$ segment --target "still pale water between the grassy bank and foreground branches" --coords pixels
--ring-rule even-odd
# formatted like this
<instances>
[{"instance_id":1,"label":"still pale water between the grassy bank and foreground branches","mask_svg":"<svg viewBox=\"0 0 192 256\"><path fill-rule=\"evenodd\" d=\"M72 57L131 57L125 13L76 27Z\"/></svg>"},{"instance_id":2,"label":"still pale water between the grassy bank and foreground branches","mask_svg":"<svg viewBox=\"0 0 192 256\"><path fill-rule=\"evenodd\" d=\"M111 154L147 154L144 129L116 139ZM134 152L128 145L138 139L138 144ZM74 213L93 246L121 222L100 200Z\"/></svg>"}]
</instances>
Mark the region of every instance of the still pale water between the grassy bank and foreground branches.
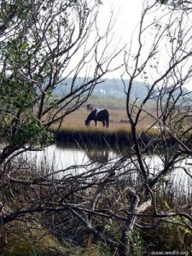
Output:
<instances>
[{"instance_id":1,"label":"still pale water between the grassy bank and foreground branches","mask_svg":"<svg viewBox=\"0 0 192 256\"><path fill-rule=\"evenodd\" d=\"M84 172L84 165L91 163L89 168L94 168L101 161L105 168L113 166L116 160L119 160L119 154L109 149L91 149L83 150L82 148L73 147L65 148L51 145L44 149L44 151L25 152L21 155L23 160L35 165L35 168L40 170L42 165L46 165L47 172L59 173L62 178L62 172L59 170L66 170L70 166L79 166L78 172ZM144 157L146 166L150 177L154 177L163 168L163 162L159 155L150 154ZM127 168L133 169L135 163L122 166L120 172L125 172ZM192 195L192 159L187 158L180 160L172 168L172 172L166 175L166 181L160 181L160 188L164 188L167 193L172 193L177 196L184 196L188 199ZM74 168L69 169L68 172L73 172ZM186 173L188 172L188 174ZM65 171L66 173L66 171ZM127 172L126 172L127 173ZM77 173L76 173L77 174ZM132 179L137 179L137 174L130 174Z\"/></svg>"}]
</instances>

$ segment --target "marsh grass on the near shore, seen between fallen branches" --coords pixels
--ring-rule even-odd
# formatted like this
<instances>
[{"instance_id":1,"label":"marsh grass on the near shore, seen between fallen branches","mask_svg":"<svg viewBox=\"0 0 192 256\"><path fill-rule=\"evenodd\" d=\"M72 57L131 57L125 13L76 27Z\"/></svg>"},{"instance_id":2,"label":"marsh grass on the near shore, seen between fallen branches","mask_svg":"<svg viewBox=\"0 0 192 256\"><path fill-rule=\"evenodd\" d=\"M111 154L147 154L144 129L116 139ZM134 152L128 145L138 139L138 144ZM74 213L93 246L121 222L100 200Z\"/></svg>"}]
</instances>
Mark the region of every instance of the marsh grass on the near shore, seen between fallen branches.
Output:
<instances>
[{"instance_id":1,"label":"marsh grass on the near shore, seen between fallen branches","mask_svg":"<svg viewBox=\"0 0 192 256\"><path fill-rule=\"evenodd\" d=\"M34 166L36 166L34 164ZM43 172L43 167L45 171ZM41 164L41 175L46 173L46 162ZM17 170L20 172L20 170ZM18 173L17 172L17 173ZM20 172L20 177L35 177L35 174L29 172ZM112 209L118 212L122 206L129 207L130 201L126 196L126 189L130 182L125 179L125 184L116 183L106 186L102 190L98 208ZM119 188L120 186L120 188ZM119 189L121 196L119 197ZM158 189L157 189L158 191ZM9 201L9 211L16 210L19 207L27 207L37 197L34 190L30 187L20 184L10 183L4 193L3 201ZM49 191L47 191L49 194ZM79 192L79 195L72 195L72 203L79 204L82 198L87 196L87 191ZM95 188L89 189L89 197L95 194ZM41 195L46 195L46 189L41 191ZM40 196L40 194L39 194ZM6 197L6 200L5 200ZM170 211L175 207L173 195L157 192L155 195L158 209ZM121 199L122 198L122 199ZM55 198L56 200L56 198ZM141 197L141 201L143 198ZM86 202L89 204L89 201ZM181 198L181 205L186 205L187 201ZM11 210L10 210L11 209ZM190 209L187 213L190 213ZM153 212L153 209L148 209ZM147 213L147 212L146 212ZM126 215L124 215L126 217ZM153 224L153 218L146 217L143 223ZM172 218L170 221L179 222L179 218ZM111 221L108 218L94 218L94 226L114 241L118 241L124 227L124 222L118 219ZM161 251L161 249L189 251L192 245L192 233L184 226L174 225L170 222L159 222L152 229L140 230L136 228L131 236L131 256L142 255L143 252ZM76 255L76 256L97 256L114 255L110 247L99 239L93 238L84 233L84 225L69 212L47 212L26 214L19 220L15 220L5 225L0 230L0 248L1 255ZM20 252L20 253L18 253Z\"/></svg>"}]
</instances>

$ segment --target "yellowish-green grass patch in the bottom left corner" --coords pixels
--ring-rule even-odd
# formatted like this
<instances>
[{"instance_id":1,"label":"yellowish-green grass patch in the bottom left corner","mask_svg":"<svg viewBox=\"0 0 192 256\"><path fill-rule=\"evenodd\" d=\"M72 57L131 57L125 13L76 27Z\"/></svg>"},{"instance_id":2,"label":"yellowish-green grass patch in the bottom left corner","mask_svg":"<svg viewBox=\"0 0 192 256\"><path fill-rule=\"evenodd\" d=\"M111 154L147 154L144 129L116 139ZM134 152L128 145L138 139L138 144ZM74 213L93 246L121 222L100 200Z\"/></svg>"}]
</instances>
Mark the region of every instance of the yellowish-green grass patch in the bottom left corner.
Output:
<instances>
[{"instance_id":1,"label":"yellowish-green grass patch in the bottom left corner","mask_svg":"<svg viewBox=\"0 0 192 256\"><path fill-rule=\"evenodd\" d=\"M57 241L37 220L15 220L6 224L0 235L1 255L72 255L71 247Z\"/></svg>"}]
</instances>

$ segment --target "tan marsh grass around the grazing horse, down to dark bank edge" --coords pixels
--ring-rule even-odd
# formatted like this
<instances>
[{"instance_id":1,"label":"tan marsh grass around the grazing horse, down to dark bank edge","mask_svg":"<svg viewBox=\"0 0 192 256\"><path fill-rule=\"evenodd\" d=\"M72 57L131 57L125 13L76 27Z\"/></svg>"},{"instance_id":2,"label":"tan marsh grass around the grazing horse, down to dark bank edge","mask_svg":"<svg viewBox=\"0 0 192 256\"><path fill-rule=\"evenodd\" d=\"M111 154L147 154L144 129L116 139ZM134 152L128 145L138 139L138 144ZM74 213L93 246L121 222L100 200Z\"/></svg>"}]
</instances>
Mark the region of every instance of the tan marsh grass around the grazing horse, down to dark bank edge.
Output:
<instances>
[{"instance_id":1,"label":"tan marsh grass around the grazing horse, down to dark bank edge","mask_svg":"<svg viewBox=\"0 0 192 256\"><path fill-rule=\"evenodd\" d=\"M61 124L60 131L56 137L56 143L64 143L65 145L90 143L95 145L95 147L100 144L109 148L113 148L114 146L117 148L130 147L131 125L128 121L125 108L111 108L109 111L109 128L102 127L101 122L98 122L98 127L96 127L94 121L90 122L89 127L85 126L84 120L89 115L85 105L69 114ZM153 119L143 115L137 125L138 136L143 140L147 137L158 136L159 131L154 129L153 124ZM52 126L54 131L56 131L56 128L56 125Z\"/></svg>"}]
</instances>

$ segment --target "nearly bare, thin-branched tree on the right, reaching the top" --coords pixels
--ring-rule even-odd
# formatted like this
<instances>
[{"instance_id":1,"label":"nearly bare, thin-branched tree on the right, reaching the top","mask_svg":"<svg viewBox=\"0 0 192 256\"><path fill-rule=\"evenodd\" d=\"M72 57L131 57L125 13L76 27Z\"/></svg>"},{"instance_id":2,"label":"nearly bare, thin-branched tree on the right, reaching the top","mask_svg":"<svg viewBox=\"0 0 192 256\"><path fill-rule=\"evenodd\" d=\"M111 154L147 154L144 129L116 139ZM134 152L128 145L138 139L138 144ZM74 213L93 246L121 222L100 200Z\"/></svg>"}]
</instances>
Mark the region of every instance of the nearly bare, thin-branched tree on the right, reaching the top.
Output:
<instances>
[{"instance_id":1,"label":"nearly bare, thin-branched tree on the right, reaching the top","mask_svg":"<svg viewBox=\"0 0 192 256\"><path fill-rule=\"evenodd\" d=\"M189 3L174 1L174 4L176 2ZM126 111L134 145L131 149L136 156L132 161L135 163L138 179L136 187L131 189L131 200L135 204L132 204L132 214L130 215L130 211L127 214L129 222L126 226L127 233L122 236L123 246L119 245L122 252L120 255L131 252L134 224L145 229L149 225L154 228L167 221L172 225L184 224L186 229L192 230L191 214L186 207L189 201L182 201L179 205L177 200L173 201L172 207L166 210L166 201L161 202L159 197L160 183L164 183L170 173L176 172L178 166L180 175L187 175L190 182L192 177L188 161L185 166L181 166L182 160L191 160L192 157L192 125L189 121L192 116L192 94L185 89L192 77L190 18L191 14L186 14L186 9L176 11L165 6L161 8L156 1L146 1L137 33L131 40L131 48L125 53L124 75L130 81L127 83L122 80L125 84ZM136 97L135 102L132 102L131 91L134 90L133 83L136 79L143 80L148 93L142 100ZM155 102L154 108L148 108L151 100ZM137 132L142 121L146 124L143 126L143 135ZM156 136L150 137L148 131L155 129ZM154 166L148 165L148 152L159 157L157 166L155 163ZM128 155L126 159L129 159ZM138 201L143 202L141 188L146 193L144 201L148 205L148 211L139 214ZM187 194L190 193L188 188ZM153 224L146 222L146 216L153 219ZM191 249L188 247L189 251Z\"/></svg>"}]
</instances>

